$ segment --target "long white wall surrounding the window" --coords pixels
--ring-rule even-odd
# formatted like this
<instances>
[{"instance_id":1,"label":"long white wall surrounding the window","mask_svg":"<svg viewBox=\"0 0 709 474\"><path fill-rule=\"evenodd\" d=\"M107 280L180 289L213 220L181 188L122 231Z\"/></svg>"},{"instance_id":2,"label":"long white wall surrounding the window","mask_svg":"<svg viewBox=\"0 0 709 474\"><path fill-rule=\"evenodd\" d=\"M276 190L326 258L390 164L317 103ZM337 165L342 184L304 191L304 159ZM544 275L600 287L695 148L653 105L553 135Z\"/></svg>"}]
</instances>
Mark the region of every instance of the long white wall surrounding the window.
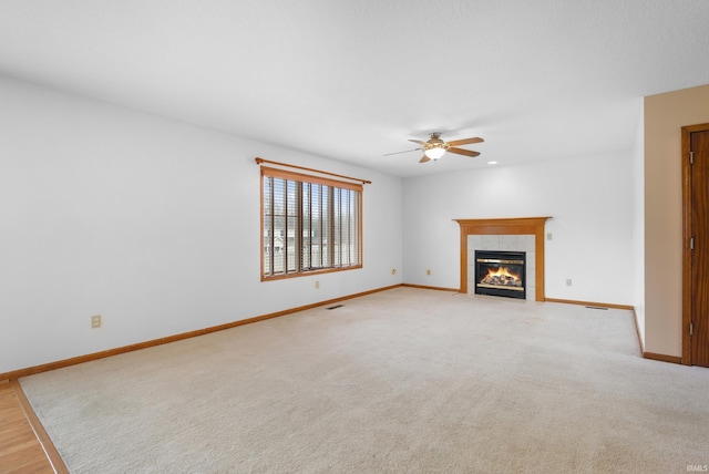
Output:
<instances>
[{"instance_id":1,"label":"long white wall surrounding the window","mask_svg":"<svg viewBox=\"0 0 709 474\"><path fill-rule=\"evenodd\" d=\"M400 178L9 79L0 103L0 372L401 282ZM260 281L256 156L372 181L363 269Z\"/></svg>"}]
</instances>

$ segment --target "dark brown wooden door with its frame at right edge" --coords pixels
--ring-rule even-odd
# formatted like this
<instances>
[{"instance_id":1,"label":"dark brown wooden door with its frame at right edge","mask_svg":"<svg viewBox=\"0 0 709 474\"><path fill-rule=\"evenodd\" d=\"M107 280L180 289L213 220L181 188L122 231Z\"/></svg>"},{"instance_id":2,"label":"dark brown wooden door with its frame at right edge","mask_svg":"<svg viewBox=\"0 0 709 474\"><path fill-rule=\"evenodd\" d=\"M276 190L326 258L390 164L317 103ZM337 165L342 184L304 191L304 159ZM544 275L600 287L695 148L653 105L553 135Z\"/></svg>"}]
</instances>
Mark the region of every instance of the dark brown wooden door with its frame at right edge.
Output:
<instances>
[{"instance_id":1,"label":"dark brown wooden door with its frame at right edge","mask_svg":"<svg viewBox=\"0 0 709 474\"><path fill-rule=\"evenodd\" d=\"M682 127L682 363L709 367L709 124Z\"/></svg>"}]
</instances>

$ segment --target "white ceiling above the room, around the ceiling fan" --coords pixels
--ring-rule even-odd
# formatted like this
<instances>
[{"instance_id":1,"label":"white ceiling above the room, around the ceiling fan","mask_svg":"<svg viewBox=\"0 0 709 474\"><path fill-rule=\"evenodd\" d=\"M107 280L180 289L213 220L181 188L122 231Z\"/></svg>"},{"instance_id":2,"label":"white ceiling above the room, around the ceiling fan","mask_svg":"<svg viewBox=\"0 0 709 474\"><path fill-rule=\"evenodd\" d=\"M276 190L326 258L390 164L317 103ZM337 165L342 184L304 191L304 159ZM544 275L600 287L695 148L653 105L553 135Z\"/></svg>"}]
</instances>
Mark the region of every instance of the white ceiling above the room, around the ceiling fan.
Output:
<instances>
[{"instance_id":1,"label":"white ceiling above the room, around the ceiling fan","mask_svg":"<svg viewBox=\"0 0 709 474\"><path fill-rule=\"evenodd\" d=\"M414 176L631 148L709 1L0 0L0 74ZM434 131L482 155L382 156Z\"/></svg>"}]
</instances>

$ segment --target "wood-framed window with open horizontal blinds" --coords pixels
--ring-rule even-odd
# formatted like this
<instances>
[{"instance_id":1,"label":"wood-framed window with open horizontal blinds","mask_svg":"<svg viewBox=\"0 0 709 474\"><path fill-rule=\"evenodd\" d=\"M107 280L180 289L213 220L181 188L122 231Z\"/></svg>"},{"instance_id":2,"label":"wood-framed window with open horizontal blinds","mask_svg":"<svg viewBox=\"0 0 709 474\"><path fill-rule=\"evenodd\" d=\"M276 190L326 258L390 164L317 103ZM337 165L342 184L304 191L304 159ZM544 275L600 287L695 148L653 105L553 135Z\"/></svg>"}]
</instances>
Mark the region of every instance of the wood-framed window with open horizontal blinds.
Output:
<instances>
[{"instance_id":1,"label":"wood-framed window with open horizontal blinds","mask_svg":"<svg viewBox=\"0 0 709 474\"><path fill-rule=\"evenodd\" d=\"M261 166L261 279L362 266L362 185Z\"/></svg>"}]
</instances>

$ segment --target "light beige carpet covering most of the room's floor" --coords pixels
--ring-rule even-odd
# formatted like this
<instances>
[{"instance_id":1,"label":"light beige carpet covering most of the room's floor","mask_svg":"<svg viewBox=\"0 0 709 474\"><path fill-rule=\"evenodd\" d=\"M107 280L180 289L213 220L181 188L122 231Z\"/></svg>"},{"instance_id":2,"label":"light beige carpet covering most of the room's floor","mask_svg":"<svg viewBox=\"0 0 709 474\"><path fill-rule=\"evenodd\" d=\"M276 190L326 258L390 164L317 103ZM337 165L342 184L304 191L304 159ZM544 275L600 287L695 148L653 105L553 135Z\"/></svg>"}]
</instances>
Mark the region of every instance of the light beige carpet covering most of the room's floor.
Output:
<instances>
[{"instance_id":1,"label":"light beige carpet covering most of the room's floor","mask_svg":"<svg viewBox=\"0 0 709 474\"><path fill-rule=\"evenodd\" d=\"M73 473L687 472L709 370L629 311L397 288L21 379Z\"/></svg>"}]
</instances>

